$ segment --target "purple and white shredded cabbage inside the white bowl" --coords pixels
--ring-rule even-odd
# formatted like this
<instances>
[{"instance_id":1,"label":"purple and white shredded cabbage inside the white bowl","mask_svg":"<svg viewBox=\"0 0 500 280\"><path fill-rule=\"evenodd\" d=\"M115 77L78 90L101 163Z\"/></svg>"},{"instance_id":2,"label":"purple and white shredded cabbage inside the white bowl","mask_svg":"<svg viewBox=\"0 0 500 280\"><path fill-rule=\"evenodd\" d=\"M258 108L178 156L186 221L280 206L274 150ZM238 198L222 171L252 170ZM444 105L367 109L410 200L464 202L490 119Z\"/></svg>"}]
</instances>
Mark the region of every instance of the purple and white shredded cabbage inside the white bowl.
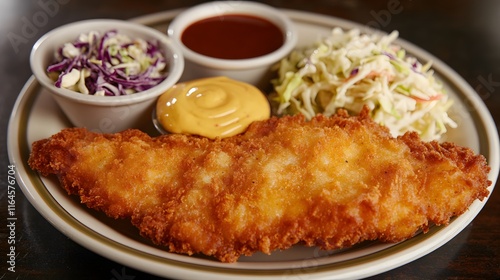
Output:
<instances>
[{"instance_id":1,"label":"purple and white shredded cabbage inside the white bowl","mask_svg":"<svg viewBox=\"0 0 500 280\"><path fill-rule=\"evenodd\" d=\"M98 96L129 95L154 87L167 76L157 42L110 30L80 34L55 53L47 67L59 88Z\"/></svg>"}]
</instances>

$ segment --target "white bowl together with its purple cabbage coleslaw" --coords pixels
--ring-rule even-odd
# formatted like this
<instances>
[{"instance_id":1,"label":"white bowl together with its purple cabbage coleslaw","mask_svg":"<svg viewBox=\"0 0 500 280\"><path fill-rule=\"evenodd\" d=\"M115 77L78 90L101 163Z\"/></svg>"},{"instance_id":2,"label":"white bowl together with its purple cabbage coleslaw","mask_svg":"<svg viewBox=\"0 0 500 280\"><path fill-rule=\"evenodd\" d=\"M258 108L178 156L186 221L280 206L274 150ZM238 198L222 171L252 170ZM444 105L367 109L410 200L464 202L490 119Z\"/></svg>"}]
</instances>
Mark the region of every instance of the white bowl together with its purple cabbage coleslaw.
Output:
<instances>
[{"instance_id":1,"label":"white bowl together with its purple cabbage coleslaw","mask_svg":"<svg viewBox=\"0 0 500 280\"><path fill-rule=\"evenodd\" d=\"M127 39L133 42L122 42ZM82 41L88 43L86 48L80 48ZM110 41L114 44L108 44ZM132 48L134 44L137 47ZM135 61L149 53L155 54L154 61ZM141 63L147 65L137 66ZM181 77L184 58L168 36L153 28L129 21L92 19L43 35L32 48L30 65L73 125L113 133L142 128L150 122L157 97ZM50 74L54 69L55 75ZM153 76L155 71L163 76Z\"/></svg>"}]
</instances>

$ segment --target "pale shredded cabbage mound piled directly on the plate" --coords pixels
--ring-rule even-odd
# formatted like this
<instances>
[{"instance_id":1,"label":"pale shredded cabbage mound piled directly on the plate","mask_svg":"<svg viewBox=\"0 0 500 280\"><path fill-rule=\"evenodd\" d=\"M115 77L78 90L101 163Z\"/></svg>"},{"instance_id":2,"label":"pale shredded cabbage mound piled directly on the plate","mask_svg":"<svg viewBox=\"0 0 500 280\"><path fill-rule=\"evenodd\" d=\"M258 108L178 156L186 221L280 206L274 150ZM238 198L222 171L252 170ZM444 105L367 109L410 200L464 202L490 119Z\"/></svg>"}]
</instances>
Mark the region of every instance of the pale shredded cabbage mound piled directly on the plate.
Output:
<instances>
[{"instance_id":1,"label":"pale shredded cabbage mound piled directly on the plate","mask_svg":"<svg viewBox=\"0 0 500 280\"><path fill-rule=\"evenodd\" d=\"M357 114L363 106L393 136L416 131L425 141L439 140L452 105L431 62L422 65L393 44L398 37L334 28L310 48L293 51L277 66L274 101L278 115L302 113L307 119L344 108Z\"/></svg>"}]
</instances>

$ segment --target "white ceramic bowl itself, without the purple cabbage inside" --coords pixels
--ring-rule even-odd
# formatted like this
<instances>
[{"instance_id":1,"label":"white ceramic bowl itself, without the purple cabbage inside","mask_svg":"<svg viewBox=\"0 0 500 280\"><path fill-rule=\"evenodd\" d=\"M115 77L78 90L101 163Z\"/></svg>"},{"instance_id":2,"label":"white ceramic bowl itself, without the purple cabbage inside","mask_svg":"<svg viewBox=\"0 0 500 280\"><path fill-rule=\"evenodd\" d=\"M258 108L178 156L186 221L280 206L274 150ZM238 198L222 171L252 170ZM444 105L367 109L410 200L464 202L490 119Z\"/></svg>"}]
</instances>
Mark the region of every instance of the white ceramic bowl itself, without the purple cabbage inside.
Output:
<instances>
[{"instance_id":1,"label":"white ceramic bowl itself, without the purple cabbage inside","mask_svg":"<svg viewBox=\"0 0 500 280\"><path fill-rule=\"evenodd\" d=\"M56 87L47 73L56 50L64 43L74 42L80 34L90 31L104 33L109 30L116 30L130 38L158 42L167 61L167 77L152 88L120 96L96 96ZM150 123L151 110L158 96L176 84L181 77L184 58L179 47L163 32L129 21L92 19L70 23L43 35L32 48L30 65L38 82L50 92L74 126L113 133L128 128L141 128Z\"/></svg>"}]
</instances>

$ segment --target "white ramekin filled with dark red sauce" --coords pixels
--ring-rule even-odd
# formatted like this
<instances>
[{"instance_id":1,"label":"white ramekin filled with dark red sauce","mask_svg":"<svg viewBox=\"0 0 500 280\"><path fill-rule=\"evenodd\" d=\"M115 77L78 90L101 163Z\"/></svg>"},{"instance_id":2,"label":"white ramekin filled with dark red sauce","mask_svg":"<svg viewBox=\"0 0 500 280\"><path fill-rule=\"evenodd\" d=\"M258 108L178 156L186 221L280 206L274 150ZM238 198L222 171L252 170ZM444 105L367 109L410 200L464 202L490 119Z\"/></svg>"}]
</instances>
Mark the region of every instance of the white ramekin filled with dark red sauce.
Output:
<instances>
[{"instance_id":1,"label":"white ramekin filled with dark red sauce","mask_svg":"<svg viewBox=\"0 0 500 280\"><path fill-rule=\"evenodd\" d=\"M215 1L182 11L167 34L185 58L181 80L226 76L259 88L270 85L270 67L297 43L292 21L271 6Z\"/></svg>"}]
</instances>

